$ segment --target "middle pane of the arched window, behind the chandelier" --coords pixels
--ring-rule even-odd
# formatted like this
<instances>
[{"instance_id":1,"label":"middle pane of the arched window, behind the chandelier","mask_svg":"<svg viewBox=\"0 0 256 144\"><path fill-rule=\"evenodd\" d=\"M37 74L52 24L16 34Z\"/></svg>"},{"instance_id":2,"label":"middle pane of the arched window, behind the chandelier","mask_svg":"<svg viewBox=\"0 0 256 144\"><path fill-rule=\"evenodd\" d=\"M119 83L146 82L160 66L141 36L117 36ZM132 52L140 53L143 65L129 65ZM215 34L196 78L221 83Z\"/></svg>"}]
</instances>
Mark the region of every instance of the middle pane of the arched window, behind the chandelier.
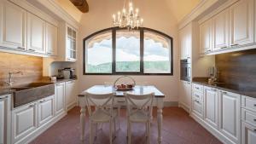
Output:
<instances>
[{"instance_id":1,"label":"middle pane of the arched window, behind the chandelier","mask_svg":"<svg viewBox=\"0 0 256 144\"><path fill-rule=\"evenodd\" d=\"M116 32L116 72L140 72L140 32Z\"/></svg>"}]
</instances>

